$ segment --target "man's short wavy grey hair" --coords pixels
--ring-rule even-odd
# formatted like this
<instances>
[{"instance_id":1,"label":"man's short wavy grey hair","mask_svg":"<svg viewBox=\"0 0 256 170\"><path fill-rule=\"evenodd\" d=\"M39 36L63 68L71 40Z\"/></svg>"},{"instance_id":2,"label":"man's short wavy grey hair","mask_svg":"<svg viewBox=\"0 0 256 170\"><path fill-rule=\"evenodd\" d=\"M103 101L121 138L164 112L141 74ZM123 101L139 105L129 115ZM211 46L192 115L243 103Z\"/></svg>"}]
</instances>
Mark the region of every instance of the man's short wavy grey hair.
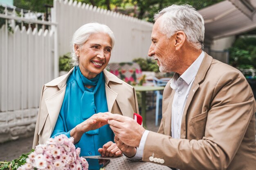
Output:
<instances>
[{"instance_id":1,"label":"man's short wavy grey hair","mask_svg":"<svg viewBox=\"0 0 256 170\"><path fill-rule=\"evenodd\" d=\"M156 21L160 16L160 31L170 38L176 31L183 31L187 40L196 48L203 49L204 19L191 5L171 5L154 15Z\"/></svg>"}]
</instances>

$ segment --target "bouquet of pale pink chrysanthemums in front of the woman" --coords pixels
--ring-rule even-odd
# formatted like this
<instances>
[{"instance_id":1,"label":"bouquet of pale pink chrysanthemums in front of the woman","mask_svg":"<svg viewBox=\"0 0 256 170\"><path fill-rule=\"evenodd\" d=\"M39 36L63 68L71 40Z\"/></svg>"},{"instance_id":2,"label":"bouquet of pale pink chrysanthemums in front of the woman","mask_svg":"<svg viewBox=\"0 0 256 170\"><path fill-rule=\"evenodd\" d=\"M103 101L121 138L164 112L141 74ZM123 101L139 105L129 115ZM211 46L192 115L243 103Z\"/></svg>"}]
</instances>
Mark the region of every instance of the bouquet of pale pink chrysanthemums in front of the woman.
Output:
<instances>
[{"instance_id":1,"label":"bouquet of pale pink chrysanthemums in front of the woman","mask_svg":"<svg viewBox=\"0 0 256 170\"><path fill-rule=\"evenodd\" d=\"M80 148L75 148L73 137L58 135L36 146L18 170L88 170L88 162L79 154Z\"/></svg>"}]
</instances>

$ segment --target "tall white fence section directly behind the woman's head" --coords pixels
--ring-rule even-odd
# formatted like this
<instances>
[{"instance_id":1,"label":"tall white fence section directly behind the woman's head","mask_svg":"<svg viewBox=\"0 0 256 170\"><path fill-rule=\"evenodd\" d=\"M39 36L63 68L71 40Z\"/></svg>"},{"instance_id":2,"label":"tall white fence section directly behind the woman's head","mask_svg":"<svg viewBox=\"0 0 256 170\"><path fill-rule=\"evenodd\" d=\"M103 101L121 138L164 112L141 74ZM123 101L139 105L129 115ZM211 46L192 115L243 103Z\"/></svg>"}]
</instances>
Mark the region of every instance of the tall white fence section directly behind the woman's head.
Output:
<instances>
[{"instance_id":1,"label":"tall white fence section directly behind the woman's head","mask_svg":"<svg viewBox=\"0 0 256 170\"><path fill-rule=\"evenodd\" d=\"M147 57L152 23L73 0L55 0L52 14L56 15L54 22L58 23L60 55L71 51L70 42L76 29L86 23L99 22L109 26L116 38L110 62Z\"/></svg>"}]
</instances>

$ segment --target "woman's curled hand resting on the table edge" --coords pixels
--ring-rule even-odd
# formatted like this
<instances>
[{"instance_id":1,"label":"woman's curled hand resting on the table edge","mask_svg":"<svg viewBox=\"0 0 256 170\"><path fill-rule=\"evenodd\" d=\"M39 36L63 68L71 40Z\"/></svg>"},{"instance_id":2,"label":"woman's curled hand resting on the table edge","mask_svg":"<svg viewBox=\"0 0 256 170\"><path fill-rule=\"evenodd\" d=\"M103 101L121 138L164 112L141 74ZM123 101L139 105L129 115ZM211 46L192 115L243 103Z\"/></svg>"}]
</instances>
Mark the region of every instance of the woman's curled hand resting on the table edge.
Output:
<instances>
[{"instance_id":1,"label":"woman's curled hand resting on the table edge","mask_svg":"<svg viewBox=\"0 0 256 170\"><path fill-rule=\"evenodd\" d=\"M98 152L102 157L118 157L122 155L122 151L112 141L104 144L102 148L98 149Z\"/></svg>"}]
</instances>

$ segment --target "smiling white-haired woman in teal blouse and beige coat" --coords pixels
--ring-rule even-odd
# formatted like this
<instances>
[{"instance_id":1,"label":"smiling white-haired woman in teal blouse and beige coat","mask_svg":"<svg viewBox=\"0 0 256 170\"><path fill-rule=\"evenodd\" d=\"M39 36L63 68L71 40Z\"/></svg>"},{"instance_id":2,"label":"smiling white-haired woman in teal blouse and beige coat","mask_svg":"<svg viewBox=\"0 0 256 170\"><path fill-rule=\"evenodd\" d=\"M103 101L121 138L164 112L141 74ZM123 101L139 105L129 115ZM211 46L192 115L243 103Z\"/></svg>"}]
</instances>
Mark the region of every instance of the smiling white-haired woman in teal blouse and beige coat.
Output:
<instances>
[{"instance_id":1,"label":"smiling white-haired woman in teal blouse and beige coat","mask_svg":"<svg viewBox=\"0 0 256 170\"><path fill-rule=\"evenodd\" d=\"M103 24L85 24L74 33L75 66L43 86L33 148L65 134L74 137L81 156L122 154L104 112L133 117L138 105L134 88L104 70L114 44L113 32Z\"/></svg>"}]
</instances>

